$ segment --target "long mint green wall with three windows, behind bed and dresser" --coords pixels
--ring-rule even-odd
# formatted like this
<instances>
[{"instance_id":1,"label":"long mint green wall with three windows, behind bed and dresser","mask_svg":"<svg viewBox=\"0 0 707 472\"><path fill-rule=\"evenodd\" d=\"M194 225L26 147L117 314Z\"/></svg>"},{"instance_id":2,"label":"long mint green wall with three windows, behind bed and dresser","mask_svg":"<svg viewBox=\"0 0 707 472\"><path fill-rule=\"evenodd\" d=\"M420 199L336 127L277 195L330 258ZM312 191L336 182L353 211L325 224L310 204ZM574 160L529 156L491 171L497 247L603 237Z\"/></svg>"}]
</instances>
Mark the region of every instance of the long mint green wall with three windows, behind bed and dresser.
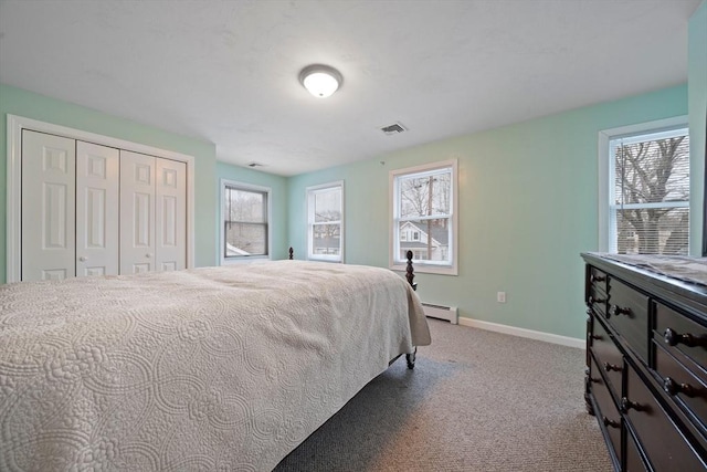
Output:
<instances>
[{"instance_id":1,"label":"long mint green wall with three windows, behind bed and dresser","mask_svg":"<svg viewBox=\"0 0 707 472\"><path fill-rule=\"evenodd\" d=\"M598 249L598 133L686 113L680 85L296 176L289 240L305 254L305 188L344 180L346 262L387 266L388 172L457 158L460 275L418 274L422 300L456 305L465 317L583 338L580 252ZM496 302L498 291L507 303Z\"/></svg>"}]
</instances>

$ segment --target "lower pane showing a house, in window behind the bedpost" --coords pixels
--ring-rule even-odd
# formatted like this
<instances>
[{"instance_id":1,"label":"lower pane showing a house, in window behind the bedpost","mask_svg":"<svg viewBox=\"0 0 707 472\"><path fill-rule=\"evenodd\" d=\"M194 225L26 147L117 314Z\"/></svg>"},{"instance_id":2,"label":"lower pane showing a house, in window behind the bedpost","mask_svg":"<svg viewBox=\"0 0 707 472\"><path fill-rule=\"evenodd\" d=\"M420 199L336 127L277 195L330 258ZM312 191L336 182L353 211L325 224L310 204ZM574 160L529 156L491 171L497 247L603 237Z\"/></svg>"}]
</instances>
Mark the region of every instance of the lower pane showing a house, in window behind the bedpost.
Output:
<instances>
[{"instance_id":1,"label":"lower pane showing a house, in window behind the bedpost","mask_svg":"<svg viewBox=\"0 0 707 472\"><path fill-rule=\"evenodd\" d=\"M418 261L450 263L450 220L401 221L398 225L400 259L412 251Z\"/></svg>"}]
</instances>

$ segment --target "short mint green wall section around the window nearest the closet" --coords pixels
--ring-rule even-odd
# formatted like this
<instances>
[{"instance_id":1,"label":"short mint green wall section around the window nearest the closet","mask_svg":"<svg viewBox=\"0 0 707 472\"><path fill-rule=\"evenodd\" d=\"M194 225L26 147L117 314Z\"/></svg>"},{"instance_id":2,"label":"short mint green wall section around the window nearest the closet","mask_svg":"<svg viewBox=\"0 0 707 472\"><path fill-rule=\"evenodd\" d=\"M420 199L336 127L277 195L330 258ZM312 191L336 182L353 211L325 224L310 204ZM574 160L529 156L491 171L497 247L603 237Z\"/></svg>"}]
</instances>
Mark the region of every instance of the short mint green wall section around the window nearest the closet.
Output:
<instances>
[{"instance_id":1,"label":"short mint green wall section around the window nearest the closet","mask_svg":"<svg viewBox=\"0 0 707 472\"><path fill-rule=\"evenodd\" d=\"M217 201L220 201L221 179L234 180L243 183L251 183L271 189L271 234L272 234L272 259L287 259L289 249L287 233L287 178L260 172L245 167L232 166L224 162L217 162ZM221 209L219 209L221 211ZM218 231L221 231L219 228ZM217 232L217 241L219 238ZM217 242L218 244L218 242ZM218 249L217 249L218 251ZM219 254L217 254L217 258Z\"/></svg>"}]
</instances>

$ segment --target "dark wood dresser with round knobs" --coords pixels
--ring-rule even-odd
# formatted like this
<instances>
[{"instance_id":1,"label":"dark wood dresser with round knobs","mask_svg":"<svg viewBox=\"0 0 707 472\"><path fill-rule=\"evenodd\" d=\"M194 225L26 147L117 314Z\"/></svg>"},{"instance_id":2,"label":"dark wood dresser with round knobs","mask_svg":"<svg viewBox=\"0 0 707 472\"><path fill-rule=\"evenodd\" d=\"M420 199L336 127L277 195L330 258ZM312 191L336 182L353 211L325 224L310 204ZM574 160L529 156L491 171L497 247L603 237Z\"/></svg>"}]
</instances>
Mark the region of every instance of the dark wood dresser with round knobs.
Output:
<instances>
[{"instance_id":1,"label":"dark wood dresser with round knobs","mask_svg":"<svg viewBox=\"0 0 707 472\"><path fill-rule=\"evenodd\" d=\"M707 286L582 258L587 408L614 469L707 470Z\"/></svg>"}]
</instances>

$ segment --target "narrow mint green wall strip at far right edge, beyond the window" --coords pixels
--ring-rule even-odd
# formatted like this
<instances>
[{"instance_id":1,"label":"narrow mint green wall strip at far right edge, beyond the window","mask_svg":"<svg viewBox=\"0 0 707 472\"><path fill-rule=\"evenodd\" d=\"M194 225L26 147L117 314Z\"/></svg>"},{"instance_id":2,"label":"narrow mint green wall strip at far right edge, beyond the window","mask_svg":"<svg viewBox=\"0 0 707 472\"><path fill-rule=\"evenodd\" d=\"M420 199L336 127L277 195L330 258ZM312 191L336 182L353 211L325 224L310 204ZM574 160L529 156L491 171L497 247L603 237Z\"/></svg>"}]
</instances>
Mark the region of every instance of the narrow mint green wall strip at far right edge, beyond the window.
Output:
<instances>
[{"instance_id":1,"label":"narrow mint green wall strip at far right edge, beyond the window","mask_svg":"<svg viewBox=\"0 0 707 472\"><path fill-rule=\"evenodd\" d=\"M690 252L701 255L703 224L707 208L705 192L705 126L707 122L707 0L689 19L687 54L687 96L689 107L690 154Z\"/></svg>"}]
</instances>

